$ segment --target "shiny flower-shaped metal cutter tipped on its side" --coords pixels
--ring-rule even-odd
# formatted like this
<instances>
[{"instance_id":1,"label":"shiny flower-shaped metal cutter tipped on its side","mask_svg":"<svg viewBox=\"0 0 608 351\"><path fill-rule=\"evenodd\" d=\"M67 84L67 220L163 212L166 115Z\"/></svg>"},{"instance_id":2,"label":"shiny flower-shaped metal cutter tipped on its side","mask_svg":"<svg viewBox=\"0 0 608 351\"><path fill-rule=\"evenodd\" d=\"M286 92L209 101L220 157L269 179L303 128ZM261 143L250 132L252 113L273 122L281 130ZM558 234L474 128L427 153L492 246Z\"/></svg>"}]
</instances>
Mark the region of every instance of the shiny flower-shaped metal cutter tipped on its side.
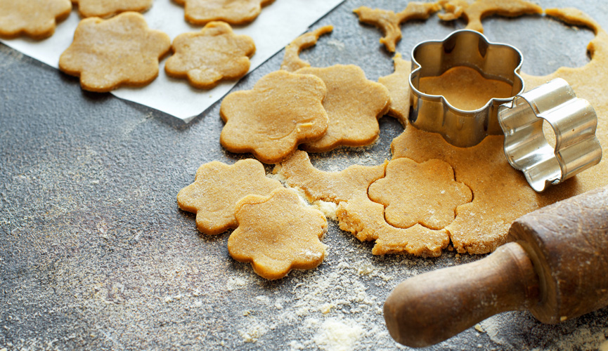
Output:
<instances>
[{"instance_id":1,"label":"shiny flower-shaped metal cutter tipped on its side","mask_svg":"<svg viewBox=\"0 0 608 351\"><path fill-rule=\"evenodd\" d=\"M595 110L587 100L576 98L564 79L518 94L498 108L498 121L505 133L507 160L524 172L537 192L602 159L602 148L595 138ZM555 133L555 147L548 143L543 121Z\"/></svg>"}]
</instances>

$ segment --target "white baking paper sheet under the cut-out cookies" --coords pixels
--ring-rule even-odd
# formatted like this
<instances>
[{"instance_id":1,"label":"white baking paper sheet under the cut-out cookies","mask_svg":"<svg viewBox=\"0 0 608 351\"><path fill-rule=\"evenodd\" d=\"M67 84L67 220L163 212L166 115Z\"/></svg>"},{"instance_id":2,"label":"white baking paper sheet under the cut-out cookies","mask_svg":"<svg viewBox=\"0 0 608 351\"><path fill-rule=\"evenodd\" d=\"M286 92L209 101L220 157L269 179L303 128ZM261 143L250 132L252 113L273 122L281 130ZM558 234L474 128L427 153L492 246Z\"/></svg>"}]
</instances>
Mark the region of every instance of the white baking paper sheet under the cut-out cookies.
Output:
<instances>
[{"instance_id":1,"label":"white baking paper sheet under the cut-out cookies","mask_svg":"<svg viewBox=\"0 0 608 351\"><path fill-rule=\"evenodd\" d=\"M342 1L344 0L276 0L262 8L259 17L250 25L233 28L235 33L247 34L255 41L256 53L251 60L250 72L299 34L306 32L310 25ZM154 1L152 8L143 15L151 29L169 34L172 40L178 34L202 28L183 20L183 6L172 0ZM70 17L58 24L55 34L48 39L34 41L18 38L1 41L25 55L58 68L59 56L72 43L79 20L81 18L75 8ZM112 91L112 94L189 122L224 97L236 84L236 81L223 82L207 91L192 88L186 79L172 79L164 74L165 60L167 57L160 64L159 76L150 85L143 88L119 88Z\"/></svg>"}]
</instances>

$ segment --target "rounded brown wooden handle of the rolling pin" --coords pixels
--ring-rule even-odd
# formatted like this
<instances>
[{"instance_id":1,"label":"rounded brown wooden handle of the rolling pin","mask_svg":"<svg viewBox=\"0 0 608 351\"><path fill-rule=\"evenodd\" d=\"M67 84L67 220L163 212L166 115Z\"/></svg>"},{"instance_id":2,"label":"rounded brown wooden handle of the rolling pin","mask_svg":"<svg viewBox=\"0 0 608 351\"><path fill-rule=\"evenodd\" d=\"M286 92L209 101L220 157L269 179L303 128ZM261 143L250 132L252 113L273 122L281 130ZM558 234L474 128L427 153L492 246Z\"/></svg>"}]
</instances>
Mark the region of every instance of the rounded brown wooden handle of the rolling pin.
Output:
<instances>
[{"instance_id":1,"label":"rounded brown wooden handle of the rolling pin","mask_svg":"<svg viewBox=\"0 0 608 351\"><path fill-rule=\"evenodd\" d=\"M538 303L538 275L524 248L511 242L473 263L407 279L384 302L391 336L403 345L434 345L493 314Z\"/></svg>"}]
</instances>

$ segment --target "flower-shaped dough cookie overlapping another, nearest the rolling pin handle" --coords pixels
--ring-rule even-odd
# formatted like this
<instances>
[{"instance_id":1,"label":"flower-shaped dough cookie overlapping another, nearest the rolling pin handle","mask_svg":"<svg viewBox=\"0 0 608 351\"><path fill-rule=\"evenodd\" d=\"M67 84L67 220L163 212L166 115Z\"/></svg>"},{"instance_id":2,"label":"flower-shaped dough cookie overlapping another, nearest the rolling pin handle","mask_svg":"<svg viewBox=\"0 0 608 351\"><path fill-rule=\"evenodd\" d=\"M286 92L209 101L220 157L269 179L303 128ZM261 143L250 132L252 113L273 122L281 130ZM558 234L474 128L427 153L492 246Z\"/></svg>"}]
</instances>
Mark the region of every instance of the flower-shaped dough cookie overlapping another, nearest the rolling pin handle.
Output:
<instances>
[{"instance_id":1,"label":"flower-shaped dough cookie overlapping another, nearest the rolling pin handle","mask_svg":"<svg viewBox=\"0 0 608 351\"><path fill-rule=\"evenodd\" d=\"M319 239L328 223L321 211L307 208L293 190L278 189L269 197L248 195L235 207L238 228L228 238L228 252L251 263L266 279L290 270L311 270L325 258Z\"/></svg>"}]
</instances>

